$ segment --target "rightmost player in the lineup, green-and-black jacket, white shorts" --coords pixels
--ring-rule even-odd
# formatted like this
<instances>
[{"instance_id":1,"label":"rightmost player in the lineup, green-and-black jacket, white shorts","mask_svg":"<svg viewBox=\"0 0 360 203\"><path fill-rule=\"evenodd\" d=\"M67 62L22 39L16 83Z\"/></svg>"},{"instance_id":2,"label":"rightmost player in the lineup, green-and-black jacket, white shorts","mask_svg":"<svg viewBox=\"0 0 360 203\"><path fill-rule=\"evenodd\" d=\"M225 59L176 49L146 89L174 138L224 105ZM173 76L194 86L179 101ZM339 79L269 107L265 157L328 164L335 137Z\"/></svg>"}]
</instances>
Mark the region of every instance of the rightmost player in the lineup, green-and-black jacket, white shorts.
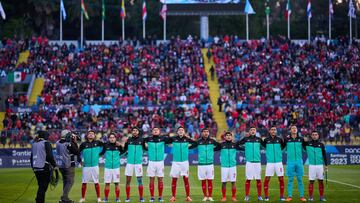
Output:
<instances>
[{"instance_id":1,"label":"rightmost player in the lineup, green-and-black jacket, white shorts","mask_svg":"<svg viewBox=\"0 0 360 203\"><path fill-rule=\"evenodd\" d=\"M306 143L306 153L309 159L309 201L314 201L314 182L319 182L320 201L325 202L324 198L324 167L327 170L327 160L325 146L319 141L319 133L311 133L311 141Z\"/></svg>"}]
</instances>

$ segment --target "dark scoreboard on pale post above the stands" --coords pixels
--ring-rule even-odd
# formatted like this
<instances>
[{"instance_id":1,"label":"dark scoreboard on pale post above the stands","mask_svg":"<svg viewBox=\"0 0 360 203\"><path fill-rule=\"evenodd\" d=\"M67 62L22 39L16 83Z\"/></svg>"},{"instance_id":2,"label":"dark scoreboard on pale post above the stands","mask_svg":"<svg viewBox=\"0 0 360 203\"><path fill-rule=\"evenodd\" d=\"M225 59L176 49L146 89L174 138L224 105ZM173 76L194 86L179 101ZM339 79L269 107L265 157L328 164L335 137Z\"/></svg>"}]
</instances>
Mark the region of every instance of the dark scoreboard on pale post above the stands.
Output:
<instances>
[{"instance_id":1,"label":"dark scoreboard on pale post above the stands","mask_svg":"<svg viewBox=\"0 0 360 203\"><path fill-rule=\"evenodd\" d=\"M209 16L244 15L245 1L240 1L240 3L168 3L167 8L168 16L199 16L200 37L208 39Z\"/></svg>"}]
</instances>

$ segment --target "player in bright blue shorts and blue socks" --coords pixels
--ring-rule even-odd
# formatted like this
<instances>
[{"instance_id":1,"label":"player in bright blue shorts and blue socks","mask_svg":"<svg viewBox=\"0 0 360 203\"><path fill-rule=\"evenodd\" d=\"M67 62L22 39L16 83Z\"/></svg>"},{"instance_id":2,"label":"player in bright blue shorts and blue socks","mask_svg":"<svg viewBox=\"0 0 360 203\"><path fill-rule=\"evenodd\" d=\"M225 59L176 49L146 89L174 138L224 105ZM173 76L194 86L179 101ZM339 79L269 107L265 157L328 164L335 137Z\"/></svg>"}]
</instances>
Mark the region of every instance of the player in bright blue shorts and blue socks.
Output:
<instances>
[{"instance_id":1,"label":"player in bright blue shorts and blue socks","mask_svg":"<svg viewBox=\"0 0 360 203\"><path fill-rule=\"evenodd\" d=\"M296 125L291 125L290 136L284 140L285 150L287 152L286 161L286 175L288 176L288 198L286 201L292 200L292 190L294 184L294 176L298 181L298 189L300 193L300 201L305 202L304 197L304 183L302 177L304 176L303 165L303 149L305 147L305 141L298 136L298 130Z\"/></svg>"}]
</instances>

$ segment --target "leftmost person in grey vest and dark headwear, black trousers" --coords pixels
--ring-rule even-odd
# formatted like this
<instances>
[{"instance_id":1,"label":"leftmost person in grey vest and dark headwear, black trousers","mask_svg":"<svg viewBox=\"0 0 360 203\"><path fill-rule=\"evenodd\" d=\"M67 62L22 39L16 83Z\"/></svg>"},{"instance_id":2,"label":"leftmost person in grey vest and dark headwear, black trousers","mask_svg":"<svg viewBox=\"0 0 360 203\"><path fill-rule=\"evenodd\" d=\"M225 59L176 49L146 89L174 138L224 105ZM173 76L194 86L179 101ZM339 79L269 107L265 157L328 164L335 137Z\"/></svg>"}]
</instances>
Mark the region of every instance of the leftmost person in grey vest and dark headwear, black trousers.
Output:
<instances>
[{"instance_id":1,"label":"leftmost person in grey vest and dark headwear, black trousers","mask_svg":"<svg viewBox=\"0 0 360 203\"><path fill-rule=\"evenodd\" d=\"M31 148L30 163L38 181L36 203L45 202L45 193L50 183L52 170L56 167L52 147L48 142L49 133L39 131Z\"/></svg>"}]
</instances>

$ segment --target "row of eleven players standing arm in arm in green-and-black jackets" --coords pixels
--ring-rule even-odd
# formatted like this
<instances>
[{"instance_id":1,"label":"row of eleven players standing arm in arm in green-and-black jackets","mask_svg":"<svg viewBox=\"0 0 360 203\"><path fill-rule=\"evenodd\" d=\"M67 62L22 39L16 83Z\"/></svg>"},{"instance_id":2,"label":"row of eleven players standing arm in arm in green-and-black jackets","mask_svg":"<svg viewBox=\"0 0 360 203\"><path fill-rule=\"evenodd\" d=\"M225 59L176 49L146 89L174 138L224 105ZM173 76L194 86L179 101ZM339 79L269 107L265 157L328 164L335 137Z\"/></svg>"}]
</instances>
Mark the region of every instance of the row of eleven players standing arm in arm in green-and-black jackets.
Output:
<instances>
[{"instance_id":1,"label":"row of eleven players standing arm in arm in green-and-black jackets","mask_svg":"<svg viewBox=\"0 0 360 203\"><path fill-rule=\"evenodd\" d=\"M319 180L320 200L326 201L324 198L323 187L323 173L324 166L327 170L326 153L324 145L319 142L319 135L316 131L311 134L311 141L305 141L302 137L297 135L297 127L291 126L290 135L282 139L277 137L276 127L269 130L269 136L262 140L256 137L256 128L250 128L249 136L244 137L238 142L233 141L233 135L230 132L225 134L225 141L219 143L215 139L209 137L209 131L203 129L201 138L193 140L186 136L185 129L179 127L176 136L162 136L160 129L155 127L152 129L152 135L143 138L139 135L140 131L134 127L131 131L132 136L125 142L119 144L116 142L114 134L109 135L109 142L103 144L95 141L95 132L89 131L86 136L86 142L80 145L80 152L82 154L82 198L80 202L85 202L86 183L99 182L99 156L105 155L105 199L108 201L109 185L110 183L119 183L119 167L120 155L127 152L127 164L125 168L126 176L126 202L130 202L130 182L133 173L138 182L138 189L140 195L140 202L143 199L143 185L142 185L142 156L143 150L148 151L149 165L147 167L147 176L150 177L149 190L150 202L155 201L154 182L155 177L158 179L158 201L162 202L163 177L164 177L164 154L165 145L172 144L173 162L171 166L170 176L172 177L172 197L171 202L176 201L176 183L179 177L184 180L186 191L186 201L191 201L190 185L188 181L189 176L189 149L198 148L198 179L202 182L202 189L204 193L203 201L214 201L212 198L212 180L214 179L214 151L220 151L221 160L221 182L222 182L222 199L226 201L226 183L232 184L232 200L236 201L236 155L237 151L245 151L246 158L246 183L245 183L245 201L249 201L249 191L251 180L256 180L258 190L258 200L269 201L268 189L270 177L275 173L279 178L280 184L280 200L291 201L294 177L298 180L298 189L300 193L300 200L306 201L304 197L304 185L302 176L304 175L303 168L303 151L306 150L309 159L309 200L313 201L313 184L316 179ZM266 149L266 172L264 191L265 198L262 198L262 183L261 183L261 148ZM287 170L286 175L288 181L288 198L284 198L284 169L282 164L282 152L287 152ZM206 186L207 183L207 186ZM116 184L118 188L118 184ZM118 189L116 189L118 190ZM97 191L98 200L100 201L100 192ZM116 193L117 194L117 193ZM119 200L118 194L116 201Z\"/></svg>"}]
</instances>

